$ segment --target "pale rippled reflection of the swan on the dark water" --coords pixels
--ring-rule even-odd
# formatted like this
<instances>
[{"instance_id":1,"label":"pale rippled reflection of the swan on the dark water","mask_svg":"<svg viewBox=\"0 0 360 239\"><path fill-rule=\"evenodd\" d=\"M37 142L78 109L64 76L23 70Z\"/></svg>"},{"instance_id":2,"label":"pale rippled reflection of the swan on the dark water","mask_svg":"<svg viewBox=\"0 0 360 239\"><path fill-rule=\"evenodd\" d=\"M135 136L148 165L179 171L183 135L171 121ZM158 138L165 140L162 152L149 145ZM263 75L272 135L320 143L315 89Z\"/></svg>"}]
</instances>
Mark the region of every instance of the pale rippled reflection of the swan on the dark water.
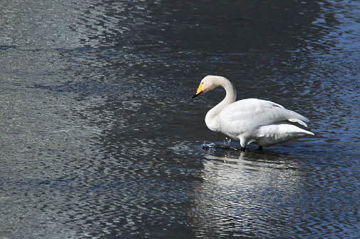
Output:
<instances>
[{"instance_id":1,"label":"pale rippled reflection of the swan on the dark water","mask_svg":"<svg viewBox=\"0 0 360 239\"><path fill-rule=\"evenodd\" d=\"M209 236L209 230L215 236L254 236L291 220L284 211L301 190L296 159L269 151L210 150L203 165L192 211L199 236Z\"/></svg>"}]
</instances>

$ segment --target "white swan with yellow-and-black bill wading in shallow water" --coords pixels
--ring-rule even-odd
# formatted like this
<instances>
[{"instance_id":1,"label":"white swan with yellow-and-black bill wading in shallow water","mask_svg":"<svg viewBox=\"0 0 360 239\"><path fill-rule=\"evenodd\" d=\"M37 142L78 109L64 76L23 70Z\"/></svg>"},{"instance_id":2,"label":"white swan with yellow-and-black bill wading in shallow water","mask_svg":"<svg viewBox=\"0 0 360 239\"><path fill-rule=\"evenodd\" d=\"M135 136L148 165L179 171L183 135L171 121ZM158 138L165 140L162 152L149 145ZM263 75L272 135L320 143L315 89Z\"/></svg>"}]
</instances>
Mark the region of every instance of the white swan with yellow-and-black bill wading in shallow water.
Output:
<instances>
[{"instance_id":1,"label":"white swan with yellow-and-black bill wading in shallow water","mask_svg":"<svg viewBox=\"0 0 360 239\"><path fill-rule=\"evenodd\" d=\"M314 133L298 127L307 127L305 122L309 122L309 119L287 110L278 103L257 98L246 98L235 102L235 88L222 76L205 76L192 98L218 86L225 88L226 96L207 112L206 126L211 131L224 133L239 140L242 150L245 150L250 143L257 144L261 150L263 146L314 136Z\"/></svg>"}]
</instances>

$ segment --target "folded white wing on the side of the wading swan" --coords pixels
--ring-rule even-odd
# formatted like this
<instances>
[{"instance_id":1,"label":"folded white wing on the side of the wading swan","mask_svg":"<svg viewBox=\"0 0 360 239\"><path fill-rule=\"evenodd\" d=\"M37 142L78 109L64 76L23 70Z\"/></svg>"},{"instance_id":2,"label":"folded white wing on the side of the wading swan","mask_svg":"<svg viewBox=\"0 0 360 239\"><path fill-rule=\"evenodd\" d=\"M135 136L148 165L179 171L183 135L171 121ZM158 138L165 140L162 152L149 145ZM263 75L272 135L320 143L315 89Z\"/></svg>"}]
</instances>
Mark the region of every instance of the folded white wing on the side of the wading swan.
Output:
<instances>
[{"instance_id":1,"label":"folded white wing on the side of the wading swan","mask_svg":"<svg viewBox=\"0 0 360 239\"><path fill-rule=\"evenodd\" d=\"M297 122L307 126L306 117L272 101L249 98L231 103L219 114L222 128L239 131L268 126L280 121Z\"/></svg>"}]
</instances>

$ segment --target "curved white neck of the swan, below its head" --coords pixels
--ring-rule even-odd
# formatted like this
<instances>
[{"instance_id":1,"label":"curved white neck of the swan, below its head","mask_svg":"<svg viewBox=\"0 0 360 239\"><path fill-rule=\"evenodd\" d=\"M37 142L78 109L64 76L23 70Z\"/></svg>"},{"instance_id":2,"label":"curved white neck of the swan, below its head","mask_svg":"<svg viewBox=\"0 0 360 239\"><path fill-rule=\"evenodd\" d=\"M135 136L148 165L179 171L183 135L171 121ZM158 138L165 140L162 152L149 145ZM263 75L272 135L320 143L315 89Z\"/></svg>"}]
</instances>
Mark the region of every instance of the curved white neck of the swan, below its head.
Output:
<instances>
[{"instance_id":1,"label":"curved white neck of the swan, below its head","mask_svg":"<svg viewBox=\"0 0 360 239\"><path fill-rule=\"evenodd\" d=\"M225 88L226 96L225 98L218 103L214 108L212 108L209 112L207 112L205 116L205 123L208 128L216 128L214 124L216 123L216 116L230 103L234 103L236 101L236 91L232 83L230 83L227 78L220 78L217 82L218 86L222 86Z\"/></svg>"}]
</instances>

